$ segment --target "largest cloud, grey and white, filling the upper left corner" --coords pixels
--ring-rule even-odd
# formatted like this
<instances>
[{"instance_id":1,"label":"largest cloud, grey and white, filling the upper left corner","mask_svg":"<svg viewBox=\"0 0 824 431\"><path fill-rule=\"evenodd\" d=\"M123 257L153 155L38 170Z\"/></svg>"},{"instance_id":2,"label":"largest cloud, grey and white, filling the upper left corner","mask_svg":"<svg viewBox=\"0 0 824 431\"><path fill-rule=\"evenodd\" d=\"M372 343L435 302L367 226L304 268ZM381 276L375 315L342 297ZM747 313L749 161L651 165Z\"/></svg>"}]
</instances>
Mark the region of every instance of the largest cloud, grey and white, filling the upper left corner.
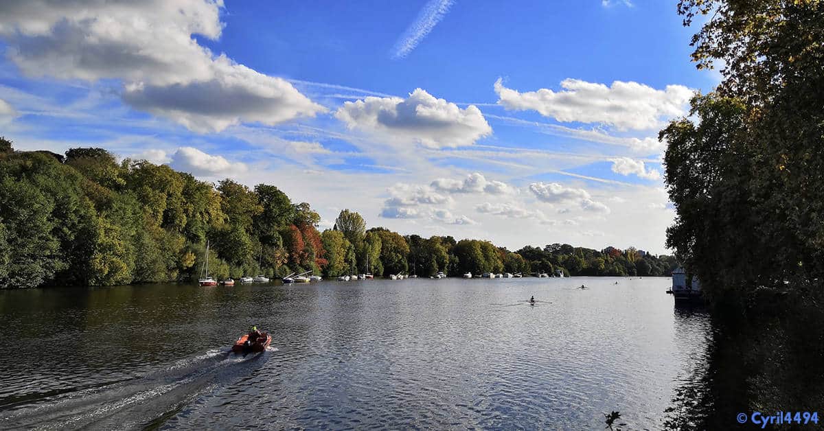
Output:
<instances>
[{"instance_id":1,"label":"largest cloud, grey and white, filling the upper left corner","mask_svg":"<svg viewBox=\"0 0 824 431\"><path fill-rule=\"evenodd\" d=\"M0 37L28 76L119 79L124 101L197 132L279 124L325 108L279 77L215 56L221 0L0 2Z\"/></svg>"}]
</instances>

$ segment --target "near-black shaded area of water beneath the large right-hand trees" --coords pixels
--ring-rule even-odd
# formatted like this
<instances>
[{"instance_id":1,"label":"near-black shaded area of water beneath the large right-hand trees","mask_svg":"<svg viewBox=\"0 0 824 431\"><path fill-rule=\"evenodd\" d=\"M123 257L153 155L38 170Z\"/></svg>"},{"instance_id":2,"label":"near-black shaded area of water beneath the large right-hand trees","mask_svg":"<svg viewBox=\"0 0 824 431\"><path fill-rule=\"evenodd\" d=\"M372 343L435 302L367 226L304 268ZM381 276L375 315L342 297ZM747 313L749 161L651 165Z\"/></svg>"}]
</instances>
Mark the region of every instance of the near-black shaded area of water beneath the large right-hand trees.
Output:
<instances>
[{"instance_id":1,"label":"near-black shaded area of water beneath the large right-hand trees","mask_svg":"<svg viewBox=\"0 0 824 431\"><path fill-rule=\"evenodd\" d=\"M676 315L707 318L703 307L677 307ZM824 429L824 310L815 302L758 298L746 312L716 310L709 317L705 358L679 376L664 429L761 429L755 411L818 412L818 424L766 429ZM744 424L737 416L747 415Z\"/></svg>"}]
</instances>

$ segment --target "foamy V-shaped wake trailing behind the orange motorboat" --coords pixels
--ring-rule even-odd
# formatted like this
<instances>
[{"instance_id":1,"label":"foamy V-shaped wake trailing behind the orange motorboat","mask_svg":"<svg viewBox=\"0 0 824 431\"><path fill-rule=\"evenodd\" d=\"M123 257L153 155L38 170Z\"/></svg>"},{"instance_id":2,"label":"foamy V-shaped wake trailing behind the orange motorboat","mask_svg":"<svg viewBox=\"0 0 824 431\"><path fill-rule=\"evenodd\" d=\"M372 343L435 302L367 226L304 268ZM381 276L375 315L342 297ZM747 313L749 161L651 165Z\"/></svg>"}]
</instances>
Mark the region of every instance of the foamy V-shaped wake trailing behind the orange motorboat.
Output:
<instances>
[{"instance_id":1,"label":"foamy V-shaped wake trailing behind the orange motorboat","mask_svg":"<svg viewBox=\"0 0 824 431\"><path fill-rule=\"evenodd\" d=\"M209 350L142 377L0 412L0 429L154 429L199 396L248 376L277 350L246 356Z\"/></svg>"}]
</instances>

